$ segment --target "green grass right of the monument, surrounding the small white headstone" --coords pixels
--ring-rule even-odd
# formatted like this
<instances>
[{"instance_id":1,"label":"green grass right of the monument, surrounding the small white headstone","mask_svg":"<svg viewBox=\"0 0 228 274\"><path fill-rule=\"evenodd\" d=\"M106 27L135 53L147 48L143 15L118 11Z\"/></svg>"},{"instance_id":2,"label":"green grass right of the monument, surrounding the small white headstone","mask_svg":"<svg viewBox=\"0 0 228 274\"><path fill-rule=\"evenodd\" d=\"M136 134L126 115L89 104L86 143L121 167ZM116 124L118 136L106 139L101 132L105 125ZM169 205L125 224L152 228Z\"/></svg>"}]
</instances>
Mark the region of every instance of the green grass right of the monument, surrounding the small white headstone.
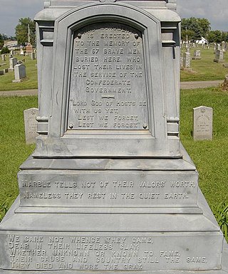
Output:
<instances>
[{"instance_id":1,"label":"green grass right of the monument, surrounding the small white headstone","mask_svg":"<svg viewBox=\"0 0 228 274\"><path fill-rule=\"evenodd\" d=\"M213 140L193 141L192 108L213 107ZM199 172L199 186L209 206L228 201L228 93L218 88L182 90L180 137Z\"/></svg>"}]
</instances>

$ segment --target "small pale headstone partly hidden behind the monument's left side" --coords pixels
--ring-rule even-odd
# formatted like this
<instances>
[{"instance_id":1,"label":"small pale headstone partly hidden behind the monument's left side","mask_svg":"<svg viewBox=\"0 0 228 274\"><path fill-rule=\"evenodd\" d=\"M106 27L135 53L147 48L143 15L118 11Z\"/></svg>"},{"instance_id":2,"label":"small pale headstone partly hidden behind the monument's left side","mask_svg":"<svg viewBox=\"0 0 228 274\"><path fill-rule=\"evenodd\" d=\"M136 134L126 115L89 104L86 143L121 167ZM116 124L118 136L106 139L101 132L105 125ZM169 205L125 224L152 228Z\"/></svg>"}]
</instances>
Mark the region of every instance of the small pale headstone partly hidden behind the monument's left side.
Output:
<instances>
[{"instance_id":1,"label":"small pale headstone partly hidden behind the monument's left side","mask_svg":"<svg viewBox=\"0 0 228 274\"><path fill-rule=\"evenodd\" d=\"M26 144L33 144L36 142L37 133L37 121L38 108L29 108L24 110L24 128L26 136Z\"/></svg>"}]
</instances>

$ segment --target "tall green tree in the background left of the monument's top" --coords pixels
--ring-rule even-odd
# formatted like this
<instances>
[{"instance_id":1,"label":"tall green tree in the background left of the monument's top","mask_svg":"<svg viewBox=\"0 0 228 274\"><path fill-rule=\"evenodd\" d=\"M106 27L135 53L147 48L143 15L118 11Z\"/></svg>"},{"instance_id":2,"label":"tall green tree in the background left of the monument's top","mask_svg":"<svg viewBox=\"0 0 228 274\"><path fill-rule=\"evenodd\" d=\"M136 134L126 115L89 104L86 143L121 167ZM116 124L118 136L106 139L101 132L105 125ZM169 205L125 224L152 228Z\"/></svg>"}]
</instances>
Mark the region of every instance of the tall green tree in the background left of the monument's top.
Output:
<instances>
[{"instance_id":1,"label":"tall green tree in the background left of the monument's top","mask_svg":"<svg viewBox=\"0 0 228 274\"><path fill-rule=\"evenodd\" d=\"M28 28L30 30L30 43L35 45L36 23L28 17L19 19L19 24L15 28L16 40L19 45L25 46L28 43Z\"/></svg>"}]
</instances>

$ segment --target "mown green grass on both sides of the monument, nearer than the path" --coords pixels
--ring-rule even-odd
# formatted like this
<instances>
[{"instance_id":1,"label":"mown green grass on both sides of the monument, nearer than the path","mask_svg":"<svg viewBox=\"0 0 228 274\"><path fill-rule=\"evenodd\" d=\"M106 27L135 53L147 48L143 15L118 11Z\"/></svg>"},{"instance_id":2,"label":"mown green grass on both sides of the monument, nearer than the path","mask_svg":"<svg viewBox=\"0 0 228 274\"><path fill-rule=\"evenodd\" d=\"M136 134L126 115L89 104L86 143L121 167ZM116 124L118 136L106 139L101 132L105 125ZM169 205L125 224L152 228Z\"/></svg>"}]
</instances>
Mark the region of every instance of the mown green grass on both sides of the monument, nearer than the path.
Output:
<instances>
[{"instance_id":1,"label":"mown green grass on both sides of the monument, nearer than the path","mask_svg":"<svg viewBox=\"0 0 228 274\"><path fill-rule=\"evenodd\" d=\"M23 110L37 105L34 96L0 97L0 211L5 201L9 207L19 194L16 174L35 148L35 145L25 143ZM195 142L192 139L192 108L199 105L214 109L212 141ZM227 203L228 93L218 88L182 90L180 110L180 137L197 167L199 186L209 206Z\"/></svg>"}]
</instances>

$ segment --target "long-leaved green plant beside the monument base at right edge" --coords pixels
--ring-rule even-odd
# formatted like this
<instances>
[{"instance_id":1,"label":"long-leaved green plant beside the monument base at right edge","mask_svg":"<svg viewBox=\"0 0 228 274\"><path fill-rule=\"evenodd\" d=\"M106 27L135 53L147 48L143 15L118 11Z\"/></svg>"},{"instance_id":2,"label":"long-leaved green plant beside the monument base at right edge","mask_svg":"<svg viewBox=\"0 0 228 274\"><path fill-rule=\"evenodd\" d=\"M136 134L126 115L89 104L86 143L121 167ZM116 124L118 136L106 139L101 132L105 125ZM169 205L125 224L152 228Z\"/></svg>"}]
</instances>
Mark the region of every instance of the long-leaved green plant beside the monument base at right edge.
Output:
<instances>
[{"instance_id":1,"label":"long-leaved green plant beside the monument base at right edge","mask_svg":"<svg viewBox=\"0 0 228 274\"><path fill-rule=\"evenodd\" d=\"M228 243L228 202L223 201L213 206L212 211Z\"/></svg>"}]
</instances>

